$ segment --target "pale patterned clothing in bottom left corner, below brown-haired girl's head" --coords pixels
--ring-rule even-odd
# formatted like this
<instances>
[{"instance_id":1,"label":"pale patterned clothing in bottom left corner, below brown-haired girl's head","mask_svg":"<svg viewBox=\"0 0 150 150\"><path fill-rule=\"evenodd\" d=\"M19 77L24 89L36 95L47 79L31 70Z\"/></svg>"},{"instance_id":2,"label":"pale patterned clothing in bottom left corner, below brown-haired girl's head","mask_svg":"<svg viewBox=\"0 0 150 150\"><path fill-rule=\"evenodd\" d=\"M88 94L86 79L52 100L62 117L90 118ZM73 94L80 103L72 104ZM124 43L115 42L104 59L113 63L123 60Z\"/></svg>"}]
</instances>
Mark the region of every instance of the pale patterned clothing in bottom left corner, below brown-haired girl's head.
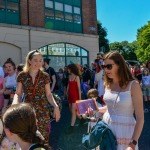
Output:
<instances>
[{"instance_id":1,"label":"pale patterned clothing in bottom left corner, below brown-haired girl's head","mask_svg":"<svg viewBox=\"0 0 150 150\"><path fill-rule=\"evenodd\" d=\"M21 150L18 144L13 143L8 140L8 138L4 138L0 145L0 150Z\"/></svg>"}]
</instances>

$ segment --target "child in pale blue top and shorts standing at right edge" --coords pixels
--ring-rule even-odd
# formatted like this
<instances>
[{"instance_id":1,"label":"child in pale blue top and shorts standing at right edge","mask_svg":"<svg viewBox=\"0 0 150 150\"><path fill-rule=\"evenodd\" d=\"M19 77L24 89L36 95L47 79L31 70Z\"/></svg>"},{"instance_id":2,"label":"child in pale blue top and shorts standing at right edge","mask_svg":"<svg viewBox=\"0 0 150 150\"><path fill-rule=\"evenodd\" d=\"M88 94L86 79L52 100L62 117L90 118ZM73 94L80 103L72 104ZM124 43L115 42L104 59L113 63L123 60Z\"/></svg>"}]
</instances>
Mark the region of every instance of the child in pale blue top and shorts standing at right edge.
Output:
<instances>
[{"instance_id":1,"label":"child in pale blue top and shorts standing at right edge","mask_svg":"<svg viewBox=\"0 0 150 150\"><path fill-rule=\"evenodd\" d=\"M143 69L142 76L142 92L144 97L145 112L148 112L148 103L150 103L150 75L148 68Z\"/></svg>"}]
</instances>

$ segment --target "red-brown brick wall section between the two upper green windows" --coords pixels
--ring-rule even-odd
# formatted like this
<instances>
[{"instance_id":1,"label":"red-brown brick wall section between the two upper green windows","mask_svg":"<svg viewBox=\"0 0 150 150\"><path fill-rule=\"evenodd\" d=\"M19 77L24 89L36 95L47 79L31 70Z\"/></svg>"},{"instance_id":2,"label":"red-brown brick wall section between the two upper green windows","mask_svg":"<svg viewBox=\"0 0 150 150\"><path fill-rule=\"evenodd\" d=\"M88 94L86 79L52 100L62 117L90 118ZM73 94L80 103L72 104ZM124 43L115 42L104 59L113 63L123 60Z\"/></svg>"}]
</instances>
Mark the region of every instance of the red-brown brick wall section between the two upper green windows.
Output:
<instances>
[{"instance_id":1,"label":"red-brown brick wall section between the two upper green windows","mask_svg":"<svg viewBox=\"0 0 150 150\"><path fill-rule=\"evenodd\" d=\"M21 0L20 13L21 25L44 27L44 0Z\"/></svg>"}]
</instances>

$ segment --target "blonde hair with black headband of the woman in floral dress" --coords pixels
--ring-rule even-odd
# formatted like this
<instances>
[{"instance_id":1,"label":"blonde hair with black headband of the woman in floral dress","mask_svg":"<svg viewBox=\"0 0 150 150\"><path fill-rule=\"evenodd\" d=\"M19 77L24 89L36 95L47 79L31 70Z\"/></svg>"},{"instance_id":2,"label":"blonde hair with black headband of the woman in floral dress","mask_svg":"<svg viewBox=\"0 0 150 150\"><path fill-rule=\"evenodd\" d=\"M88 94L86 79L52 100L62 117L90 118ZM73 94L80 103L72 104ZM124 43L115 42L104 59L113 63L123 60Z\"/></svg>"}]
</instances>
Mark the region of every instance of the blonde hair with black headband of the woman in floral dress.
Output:
<instances>
[{"instance_id":1,"label":"blonde hair with black headband of the woman in floral dress","mask_svg":"<svg viewBox=\"0 0 150 150\"><path fill-rule=\"evenodd\" d=\"M35 55L42 56L42 54L38 50L32 50L27 54L26 63L25 63L25 66L23 67L24 72L28 72L30 70L31 65L29 63L29 60L32 60L33 56L35 56ZM43 68L40 68L40 70L43 70Z\"/></svg>"}]
</instances>

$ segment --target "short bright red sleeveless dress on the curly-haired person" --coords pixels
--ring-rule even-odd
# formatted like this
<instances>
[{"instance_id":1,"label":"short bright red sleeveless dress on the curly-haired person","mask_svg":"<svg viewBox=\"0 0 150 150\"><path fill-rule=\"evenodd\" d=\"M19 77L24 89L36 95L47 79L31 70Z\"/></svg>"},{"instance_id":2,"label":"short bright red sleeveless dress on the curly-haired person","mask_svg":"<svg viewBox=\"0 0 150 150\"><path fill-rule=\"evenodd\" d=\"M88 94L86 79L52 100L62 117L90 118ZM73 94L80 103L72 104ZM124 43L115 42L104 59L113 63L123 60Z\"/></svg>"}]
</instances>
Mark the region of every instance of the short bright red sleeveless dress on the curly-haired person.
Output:
<instances>
[{"instance_id":1,"label":"short bright red sleeveless dress on the curly-haired person","mask_svg":"<svg viewBox=\"0 0 150 150\"><path fill-rule=\"evenodd\" d=\"M76 100L79 100L79 90L76 81L76 77L73 81L68 81L69 89L68 89L68 101L69 104L76 103Z\"/></svg>"}]
</instances>

